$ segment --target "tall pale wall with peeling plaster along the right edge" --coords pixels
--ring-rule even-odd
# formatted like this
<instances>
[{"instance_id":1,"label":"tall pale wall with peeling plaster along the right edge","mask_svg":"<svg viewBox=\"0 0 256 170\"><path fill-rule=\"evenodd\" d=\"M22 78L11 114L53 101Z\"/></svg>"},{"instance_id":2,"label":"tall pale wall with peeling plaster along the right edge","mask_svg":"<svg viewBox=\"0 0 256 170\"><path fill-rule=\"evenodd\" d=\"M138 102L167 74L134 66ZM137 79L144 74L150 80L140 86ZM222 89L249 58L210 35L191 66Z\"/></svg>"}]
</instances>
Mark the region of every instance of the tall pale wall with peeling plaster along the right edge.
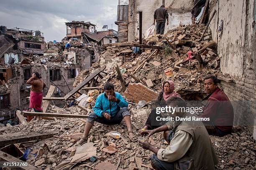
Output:
<instances>
[{"instance_id":1,"label":"tall pale wall with peeling plaster along the right edge","mask_svg":"<svg viewBox=\"0 0 256 170\"><path fill-rule=\"evenodd\" d=\"M254 102L245 102L235 108L234 124L243 121L253 124L254 119L253 136L256 139L255 3L253 0L210 0L210 16L214 10L217 13L210 23L210 29L212 39L218 42L218 54L222 56L220 68L223 74L229 74L234 80L233 83L222 81L223 90L230 100ZM223 31L220 36L218 28L221 20ZM244 114L243 107L251 108L252 114Z\"/></svg>"}]
</instances>

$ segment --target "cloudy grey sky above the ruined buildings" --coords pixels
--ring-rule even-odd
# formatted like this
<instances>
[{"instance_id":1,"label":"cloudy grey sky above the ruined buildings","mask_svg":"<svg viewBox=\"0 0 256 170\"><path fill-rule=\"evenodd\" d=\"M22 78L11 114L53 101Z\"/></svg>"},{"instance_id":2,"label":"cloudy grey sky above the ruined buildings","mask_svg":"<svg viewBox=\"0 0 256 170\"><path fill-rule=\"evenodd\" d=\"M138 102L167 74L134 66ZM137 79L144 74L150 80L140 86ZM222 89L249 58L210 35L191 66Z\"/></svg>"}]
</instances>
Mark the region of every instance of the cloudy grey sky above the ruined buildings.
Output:
<instances>
[{"instance_id":1,"label":"cloudy grey sky above the ruined buildings","mask_svg":"<svg viewBox=\"0 0 256 170\"><path fill-rule=\"evenodd\" d=\"M61 41L65 22L90 21L117 30L118 0L0 0L0 25L40 30L45 41Z\"/></svg>"}]
</instances>

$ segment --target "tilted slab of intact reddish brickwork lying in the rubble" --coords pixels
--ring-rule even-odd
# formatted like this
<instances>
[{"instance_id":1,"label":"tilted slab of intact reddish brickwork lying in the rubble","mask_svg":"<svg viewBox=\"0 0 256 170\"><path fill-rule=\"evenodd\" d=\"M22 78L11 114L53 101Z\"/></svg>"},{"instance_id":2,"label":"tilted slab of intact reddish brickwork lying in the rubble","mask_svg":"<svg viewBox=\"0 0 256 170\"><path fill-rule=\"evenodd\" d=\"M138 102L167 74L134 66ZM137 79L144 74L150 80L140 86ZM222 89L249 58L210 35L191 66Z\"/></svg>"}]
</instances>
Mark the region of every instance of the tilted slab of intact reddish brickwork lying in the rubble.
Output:
<instances>
[{"instance_id":1,"label":"tilted slab of intact reddish brickwork lying in the rubble","mask_svg":"<svg viewBox=\"0 0 256 170\"><path fill-rule=\"evenodd\" d=\"M151 89L148 89L146 86L138 83L130 83L127 87L124 95L127 99L138 103L140 100L152 101L156 100L158 94Z\"/></svg>"}]
</instances>

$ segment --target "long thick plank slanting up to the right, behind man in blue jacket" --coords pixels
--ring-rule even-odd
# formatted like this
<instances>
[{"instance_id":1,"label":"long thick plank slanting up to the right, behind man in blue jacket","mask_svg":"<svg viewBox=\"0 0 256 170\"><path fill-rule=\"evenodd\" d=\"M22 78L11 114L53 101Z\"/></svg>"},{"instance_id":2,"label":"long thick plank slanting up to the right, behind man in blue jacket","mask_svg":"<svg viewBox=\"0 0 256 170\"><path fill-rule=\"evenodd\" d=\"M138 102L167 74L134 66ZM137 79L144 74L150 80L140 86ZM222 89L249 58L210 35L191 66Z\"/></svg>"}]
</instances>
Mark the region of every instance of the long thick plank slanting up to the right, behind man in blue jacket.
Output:
<instances>
[{"instance_id":1,"label":"long thick plank slanting up to the right, behind man in blue jacket","mask_svg":"<svg viewBox=\"0 0 256 170\"><path fill-rule=\"evenodd\" d=\"M88 84L93 78L95 78L101 71L103 71L106 68L106 66L102 66L100 69L97 69L94 73L92 73L90 76L88 76L82 83L78 84L72 91L70 91L66 96L64 96L64 99L69 99L72 95L77 93L80 89L82 89L83 86Z\"/></svg>"}]
</instances>

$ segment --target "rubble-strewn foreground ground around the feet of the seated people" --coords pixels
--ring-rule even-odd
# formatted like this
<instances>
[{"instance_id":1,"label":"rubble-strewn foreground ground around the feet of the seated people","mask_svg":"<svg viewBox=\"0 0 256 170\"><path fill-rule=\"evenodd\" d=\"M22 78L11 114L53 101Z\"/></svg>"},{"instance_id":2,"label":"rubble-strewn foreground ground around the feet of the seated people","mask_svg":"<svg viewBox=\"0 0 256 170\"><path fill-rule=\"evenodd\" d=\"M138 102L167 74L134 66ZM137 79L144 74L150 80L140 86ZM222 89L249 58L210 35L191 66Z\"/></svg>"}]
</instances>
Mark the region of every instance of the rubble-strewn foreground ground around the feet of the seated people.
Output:
<instances>
[{"instance_id":1,"label":"rubble-strewn foreground ground around the feet of the seated people","mask_svg":"<svg viewBox=\"0 0 256 170\"><path fill-rule=\"evenodd\" d=\"M73 109L72 107L72 114ZM53 109L59 109L57 107ZM61 111L63 108L60 108ZM138 135L138 128L142 128L146 122L145 117L150 112L150 107L146 106L141 109L136 109L129 104L131 110L131 119L133 124L133 131ZM77 114L77 113L74 113ZM31 132L54 132L59 131L56 136L41 140L26 142L32 150L29 153L27 162L31 165L37 166L42 169L62 170L62 169L97 169L102 162L106 162L113 167L122 169L132 169L133 167L140 170L149 170L144 167L147 165L151 167L149 157L152 152L143 150L138 142L129 141L126 136L127 127L124 121L119 125L103 125L95 123L89 134L89 143L82 146L77 145L77 141L82 137L84 130L85 119L67 119L57 118L56 120L42 119L38 122L28 122L27 125L16 125L13 127L1 127L0 132L4 134L11 133L24 133ZM116 131L121 134L122 138L113 139L106 137L105 134ZM218 170L224 169L253 169L256 168L256 144L253 142L251 134L246 127L236 127L232 134L225 137L211 137L212 144L218 156L219 164ZM149 138L152 145L158 148L165 148L167 145L164 143L162 133L154 134ZM83 148L83 159L72 162L72 159L77 159L79 150ZM95 150L96 152L87 152L87 149ZM26 147L19 148L25 151ZM90 160L90 157L96 157L96 161ZM118 162L120 163L118 164Z\"/></svg>"}]
</instances>

